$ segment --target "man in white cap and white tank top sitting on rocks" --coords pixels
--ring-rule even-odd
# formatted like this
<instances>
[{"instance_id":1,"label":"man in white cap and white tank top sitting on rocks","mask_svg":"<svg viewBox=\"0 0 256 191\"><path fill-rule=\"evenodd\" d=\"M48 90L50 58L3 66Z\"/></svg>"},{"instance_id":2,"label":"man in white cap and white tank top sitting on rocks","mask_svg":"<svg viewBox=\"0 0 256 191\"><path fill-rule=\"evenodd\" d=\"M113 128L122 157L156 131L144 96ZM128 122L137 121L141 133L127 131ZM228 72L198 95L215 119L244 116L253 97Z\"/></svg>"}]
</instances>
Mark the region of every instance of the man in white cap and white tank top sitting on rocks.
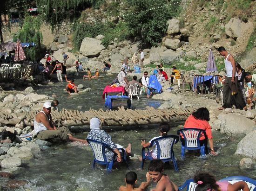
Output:
<instances>
[{"instance_id":1,"label":"man in white cap and white tank top sitting on rocks","mask_svg":"<svg viewBox=\"0 0 256 191\"><path fill-rule=\"evenodd\" d=\"M67 127L56 128L51 116L51 102L45 102L43 110L34 119L34 130L40 140L51 140L59 137L61 140L79 141L87 144L86 140L77 139L72 136Z\"/></svg>"}]
</instances>

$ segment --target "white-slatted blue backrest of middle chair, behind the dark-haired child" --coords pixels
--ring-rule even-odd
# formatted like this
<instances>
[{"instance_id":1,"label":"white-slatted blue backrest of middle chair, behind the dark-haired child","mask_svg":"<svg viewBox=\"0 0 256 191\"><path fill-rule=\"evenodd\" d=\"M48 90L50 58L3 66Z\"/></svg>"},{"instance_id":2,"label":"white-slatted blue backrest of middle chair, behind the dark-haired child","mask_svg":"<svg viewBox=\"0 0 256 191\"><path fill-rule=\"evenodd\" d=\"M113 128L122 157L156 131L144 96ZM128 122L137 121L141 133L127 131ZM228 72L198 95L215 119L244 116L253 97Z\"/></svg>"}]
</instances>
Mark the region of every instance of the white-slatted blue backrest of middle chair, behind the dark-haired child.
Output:
<instances>
[{"instance_id":1,"label":"white-slatted blue backrest of middle chair, behind the dark-haired child","mask_svg":"<svg viewBox=\"0 0 256 191\"><path fill-rule=\"evenodd\" d=\"M151 141L149 147L157 146L157 159L170 159L173 156L173 145L179 141L177 135L166 135Z\"/></svg>"}]
</instances>

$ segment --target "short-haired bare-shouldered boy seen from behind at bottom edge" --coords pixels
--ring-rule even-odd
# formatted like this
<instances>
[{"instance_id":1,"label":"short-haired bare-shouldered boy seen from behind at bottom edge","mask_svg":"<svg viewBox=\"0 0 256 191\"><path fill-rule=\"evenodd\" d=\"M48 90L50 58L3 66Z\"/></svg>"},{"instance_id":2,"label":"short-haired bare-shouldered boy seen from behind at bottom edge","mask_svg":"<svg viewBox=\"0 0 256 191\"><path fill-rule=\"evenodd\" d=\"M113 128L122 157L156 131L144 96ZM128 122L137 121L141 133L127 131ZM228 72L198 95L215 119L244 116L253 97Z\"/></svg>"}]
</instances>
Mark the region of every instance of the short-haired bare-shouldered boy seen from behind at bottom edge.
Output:
<instances>
[{"instance_id":1,"label":"short-haired bare-shouldered boy seen from behind at bottom edge","mask_svg":"<svg viewBox=\"0 0 256 191\"><path fill-rule=\"evenodd\" d=\"M137 174L135 172L128 172L125 175L124 181L126 183L125 186L120 186L119 191L144 191L149 183L150 183L150 175L147 172L146 174L147 182L142 182L140 187L135 188L135 185L137 183Z\"/></svg>"}]
</instances>

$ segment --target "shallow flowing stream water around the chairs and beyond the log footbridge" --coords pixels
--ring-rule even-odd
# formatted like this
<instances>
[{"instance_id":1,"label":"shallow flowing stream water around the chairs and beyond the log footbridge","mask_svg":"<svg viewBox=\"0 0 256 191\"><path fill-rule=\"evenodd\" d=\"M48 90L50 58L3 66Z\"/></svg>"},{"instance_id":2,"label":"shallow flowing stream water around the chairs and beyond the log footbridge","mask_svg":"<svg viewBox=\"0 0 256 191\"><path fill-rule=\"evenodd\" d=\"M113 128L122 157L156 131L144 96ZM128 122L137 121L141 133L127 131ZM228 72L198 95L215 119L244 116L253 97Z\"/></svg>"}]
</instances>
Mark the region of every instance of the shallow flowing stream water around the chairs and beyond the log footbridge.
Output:
<instances>
[{"instance_id":1,"label":"shallow flowing stream water around the chairs and beyond the log footbridge","mask_svg":"<svg viewBox=\"0 0 256 191\"><path fill-rule=\"evenodd\" d=\"M78 81L78 83L77 83ZM83 96L67 97L62 89L63 85L56 85L50 88L44 87L38 90L40 94L51 96L53 92L57 94L60 101L60 108L76 108L83 106L83 110L88 108L102 108L104 101L101 100L101 92L107 82L111 81L110 77L105 76L100 80L86 81L84 84L92 87L92 92ZM79 84L79 80L75 80ZM96 85L93 85L93 84ZM60 90L61 89L61 90ZM134 108L145 108L148 104L159 105L159 102L141 98L140 101L133 101ZM177 124L171 124L172 128L168 134L176 134L179 127ZM80 132L75 136L85 139L88 132ZM120 145L127 146L128 142L132 143L132 152L135 155L141 155L141 140L150 140L159 134L158 127L140 128L139 130L121 130L109 132L112 140ZM237 143L243 138L227 137L220 134L219 131L213 130L214 146L218 156L207 156L201 159L198 153L185 153L185 159L181 160L181 145L178 142L174 146L175 157L179 172L175 172L173 163L165 166L164 172L177 185L182 185L188 178L193 178L196 171L204 170L212 173L217 179L226 176L243 175L250 178L256 178L256 170L242 170L239 168L239 161L243 158L234 155ZM136 157L135 157L136 158ZM81 146L79 143L67 143L51 148L37 154L34 159L24 160L23 168L14 172L14 178L17 180L27 180L28 185L20 187L20 191L115 191L120 185L124 185L124 177L128 171L135 171L138 175L138 184L146 180L148 161L141 170L141 162L138 159L128 161L129 169L125 165L117 164L113 167L112 172L107 173L105 167L96 166L92 169L93 153L90 146ZM7 178L0 178L0 184L3 185ZM150 188L155 186L152 183Z\"/></svg>"}]
</instances>

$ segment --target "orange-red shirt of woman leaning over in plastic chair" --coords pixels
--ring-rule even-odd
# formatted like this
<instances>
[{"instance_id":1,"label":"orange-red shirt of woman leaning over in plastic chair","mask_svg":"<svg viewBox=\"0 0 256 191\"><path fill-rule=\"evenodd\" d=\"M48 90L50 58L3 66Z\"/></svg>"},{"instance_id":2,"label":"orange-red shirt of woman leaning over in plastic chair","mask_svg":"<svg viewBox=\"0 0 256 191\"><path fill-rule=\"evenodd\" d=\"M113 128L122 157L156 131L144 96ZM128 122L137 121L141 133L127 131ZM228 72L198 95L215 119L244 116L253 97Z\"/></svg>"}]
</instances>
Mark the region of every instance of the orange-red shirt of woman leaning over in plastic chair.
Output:
<instances>
[{"instance_id":1,"label":"orange-red shirt of woman leaning over in plastic chair","mask_svg":"<svg viewBox=\"0 0 256 191\"><path fill-rule=\"evenodd\" d=\"M195 119L193 115L190 115L185 122L184 128L199 128L203 129L206 132L208 139L212 139L211 126L208 121ZM200 140L204 140L205 137L203 134L200 135Z\"/></svg>"}]
</instances>

